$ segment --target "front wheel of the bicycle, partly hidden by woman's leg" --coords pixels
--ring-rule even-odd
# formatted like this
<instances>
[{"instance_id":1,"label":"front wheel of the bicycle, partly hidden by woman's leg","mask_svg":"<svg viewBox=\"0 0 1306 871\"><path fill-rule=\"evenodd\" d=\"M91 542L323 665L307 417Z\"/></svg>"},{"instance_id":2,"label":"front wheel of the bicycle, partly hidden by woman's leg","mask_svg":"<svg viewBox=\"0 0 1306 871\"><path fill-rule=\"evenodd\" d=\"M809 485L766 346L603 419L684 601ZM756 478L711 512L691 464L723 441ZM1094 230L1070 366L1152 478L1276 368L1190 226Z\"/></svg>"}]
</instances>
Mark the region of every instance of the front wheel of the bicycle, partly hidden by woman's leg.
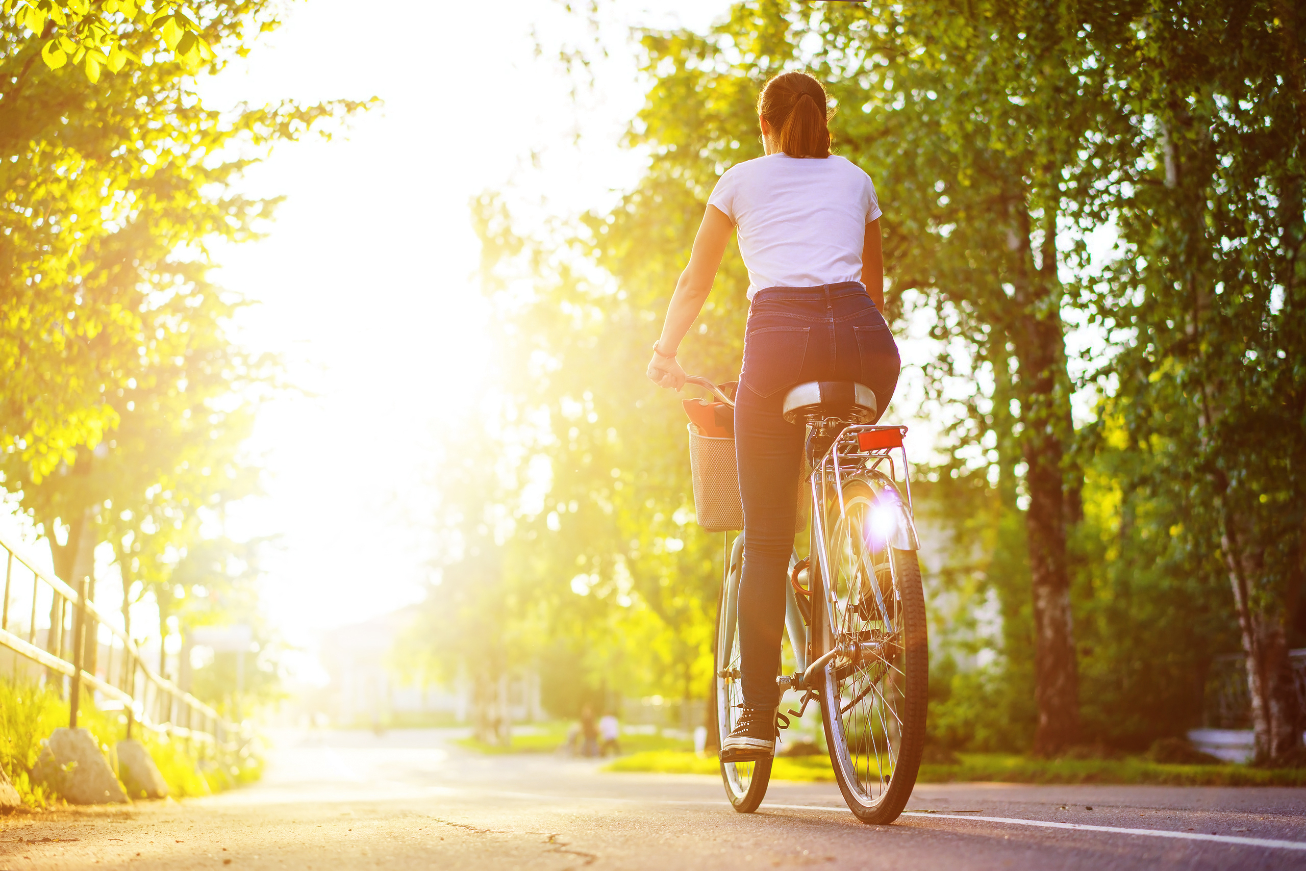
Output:
<instances>
[{"instance_id":1,"label":"front wheel of the bicycle, partly hidden by woman's leg","mask_svg":"<svg viewBox=\"0 0 1306 871\"><path fill-rule=\"evenodd\" d=\"M743 568L743 534L735 538L726 560L717 602L717 645L713 654L712 700L717 721L717 747L720 748L734 729L743 689L739 683L739 576ZM726 787L730 806L739 814L752 814L767 795L771 782L772 759L721 765L721 782Z\"/></svg>"}]
</instances>

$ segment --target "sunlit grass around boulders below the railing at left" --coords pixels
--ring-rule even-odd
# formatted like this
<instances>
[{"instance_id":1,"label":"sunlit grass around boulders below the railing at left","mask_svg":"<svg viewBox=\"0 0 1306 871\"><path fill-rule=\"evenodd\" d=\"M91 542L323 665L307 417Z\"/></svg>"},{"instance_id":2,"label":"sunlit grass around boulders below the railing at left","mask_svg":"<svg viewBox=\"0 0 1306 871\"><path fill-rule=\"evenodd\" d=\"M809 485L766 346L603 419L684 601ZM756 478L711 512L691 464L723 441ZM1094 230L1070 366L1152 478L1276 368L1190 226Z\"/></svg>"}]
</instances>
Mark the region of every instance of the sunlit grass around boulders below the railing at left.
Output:
<instances>
[{"instance_id":1,"label":"sunlit grass around boulders below the railing at left","mask_svg":"<svg viewBox=\"0 0 1306 871\"><path fill-rule=\"evenodd\" d=\"M42 785L30 781L27 772L40 753L40 742L67 725L68 701L51 687L0 680L0 765L29 808L48 807L55 800ZM82 699L77 725L86 729L106 753L127 736L127 717L118 710L98 710L89 696ZM204 759L202 751L192 752L185 742L170 740L167 735L136 729L133 738L145 744L175 798L208 795L256 781L263 773L261 760L248 748L240 759L218 765Z\"/></svg>"}]
</instances>

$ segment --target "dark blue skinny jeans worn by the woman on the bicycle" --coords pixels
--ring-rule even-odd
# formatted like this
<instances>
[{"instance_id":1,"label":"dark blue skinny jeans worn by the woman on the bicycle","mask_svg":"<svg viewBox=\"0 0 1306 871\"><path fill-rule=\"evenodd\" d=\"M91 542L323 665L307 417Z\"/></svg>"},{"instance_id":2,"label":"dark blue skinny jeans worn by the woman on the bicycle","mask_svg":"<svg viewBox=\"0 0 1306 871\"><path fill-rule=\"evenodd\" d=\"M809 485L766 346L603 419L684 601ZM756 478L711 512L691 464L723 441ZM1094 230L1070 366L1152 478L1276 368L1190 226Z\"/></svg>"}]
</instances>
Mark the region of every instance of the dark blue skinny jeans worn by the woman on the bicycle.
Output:
<instances>
[{"instance_id":1,"label":"dark blue skinny jeans worn by the woman on the bicycle","mask_svg":"<svg viewBox=\"0 0 1306 871\"><path fill-rule=\"evenodd\" d=\"M781 414L785 393L803 381L861 381L875 390L883 414L899 366L888 324L857 282L768 287L752 300L734 413L744 529L741 679L750 708L780 701L776 675L804 436L803 426Z\"/></svg>"}]
</instances>

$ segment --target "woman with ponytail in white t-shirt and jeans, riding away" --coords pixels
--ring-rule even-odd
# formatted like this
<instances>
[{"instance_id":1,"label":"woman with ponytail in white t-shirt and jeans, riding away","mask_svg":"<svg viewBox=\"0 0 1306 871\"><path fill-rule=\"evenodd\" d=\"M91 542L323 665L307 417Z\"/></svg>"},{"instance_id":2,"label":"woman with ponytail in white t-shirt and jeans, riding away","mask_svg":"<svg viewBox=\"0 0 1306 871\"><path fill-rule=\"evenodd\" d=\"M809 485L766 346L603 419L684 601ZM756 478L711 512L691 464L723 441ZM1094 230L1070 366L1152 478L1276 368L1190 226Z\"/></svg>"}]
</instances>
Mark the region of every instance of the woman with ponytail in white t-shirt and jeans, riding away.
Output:
<instances>
[{"instance_id":1,"label":"woman with ponytail in white t-shirt and jeans, riding away","mask_svg":"<svg viewBox=\"0 0 1306 871\"><path fill-rule=\"evenodd\" d=\"M722 761L773 755L785 588L794 546L803 426L782 417L785 388L859 381L880 414L899 377L884 323L880 206L871 179L829 153L827 95L811 76L776 76L757 99L765 157L717 182L677 282L648 376L680 389L675 355L712 290L730 232L748 269L748 325L734 430L743 501L739 645L743 712Z\"/></svg>"}]
</instances>

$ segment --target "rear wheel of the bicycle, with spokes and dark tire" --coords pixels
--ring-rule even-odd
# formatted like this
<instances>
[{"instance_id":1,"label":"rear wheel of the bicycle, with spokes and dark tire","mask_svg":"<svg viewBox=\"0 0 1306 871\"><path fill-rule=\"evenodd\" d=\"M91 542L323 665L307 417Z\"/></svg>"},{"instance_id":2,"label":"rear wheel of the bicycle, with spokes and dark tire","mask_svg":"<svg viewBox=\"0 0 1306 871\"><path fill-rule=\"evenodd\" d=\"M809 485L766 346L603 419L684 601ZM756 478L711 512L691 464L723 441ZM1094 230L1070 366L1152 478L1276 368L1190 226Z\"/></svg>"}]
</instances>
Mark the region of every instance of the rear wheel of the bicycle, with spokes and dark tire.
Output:
<instances>
[{"instance_id":1,"label":"rear wheel of the bicycle, with spokes and dark tire","mask_svg":"<svg viewBox=\"0 0 1306 871\"><path fill-rule=\"evenodd\" d=\"M892 496L882 498L887 492ZM912 797L925 750L929 705L929 635L916 551L899 550L887 541L876 547L871 529L875 521L871 515L859 516L863 509L874 511L882 499L897 498L897 490L885 481L854 478L844 484L842 507L836 501L825 508L833 577L828 585L823 578L819 626L825 635L824 649L837 644L854 653L836 657L820 675L821 720L844 800L858 820L872 825L896 820ZM850 529L861 534L854 538ZM878 555L884 559L876 562ZM868 589L871 585L879 588L879 597ZM831 623L838 629L832 631Z\"/></svg>"}]
</instances>

